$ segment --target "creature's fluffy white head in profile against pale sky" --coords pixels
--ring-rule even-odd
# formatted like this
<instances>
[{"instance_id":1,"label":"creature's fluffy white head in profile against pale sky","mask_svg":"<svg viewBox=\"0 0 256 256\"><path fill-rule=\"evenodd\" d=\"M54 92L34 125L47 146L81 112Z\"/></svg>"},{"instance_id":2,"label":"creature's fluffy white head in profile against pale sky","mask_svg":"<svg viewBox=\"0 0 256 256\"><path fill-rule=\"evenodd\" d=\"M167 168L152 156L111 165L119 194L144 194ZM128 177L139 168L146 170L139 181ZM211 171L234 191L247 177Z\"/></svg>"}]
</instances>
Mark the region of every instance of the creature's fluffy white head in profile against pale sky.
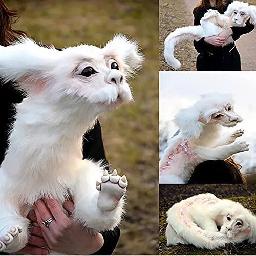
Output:
<instances>
[{"instance_id":1,"label":"creature's fluffy white head in profile against pale sky","mask_svg":"<svg viewBox=\"0 0 256 256\"><path fill-rule=\"evenodd\" d=\"M186 138L198 138L205 125L233 127L243 119L233 110L230 95L210 93L202 95L195 105L181 109L174 122Z\"/></svg>"}]
</instances>

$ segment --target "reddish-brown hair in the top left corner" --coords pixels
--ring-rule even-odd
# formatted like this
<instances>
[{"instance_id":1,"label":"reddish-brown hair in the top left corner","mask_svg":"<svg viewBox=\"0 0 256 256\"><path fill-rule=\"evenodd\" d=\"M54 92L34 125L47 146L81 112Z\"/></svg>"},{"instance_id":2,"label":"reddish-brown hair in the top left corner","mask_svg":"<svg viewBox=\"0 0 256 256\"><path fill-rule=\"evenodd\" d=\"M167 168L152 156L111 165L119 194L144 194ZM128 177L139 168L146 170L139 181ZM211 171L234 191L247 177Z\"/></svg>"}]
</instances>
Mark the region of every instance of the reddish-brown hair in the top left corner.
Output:
<instances>
[{"instance_id":1,"label":"reddish-brown hair in the top left corner","mask_svg":"<svg viewBox=\"0 0 256 256\"><path fill-rule=\"evenodd\" d=\"M7 46L18 39L19 35L27 35L25 31L12 29L18 20L16 10L9 9L3 0L0 0L0 45Z\"/></svg>"}]
</instances>

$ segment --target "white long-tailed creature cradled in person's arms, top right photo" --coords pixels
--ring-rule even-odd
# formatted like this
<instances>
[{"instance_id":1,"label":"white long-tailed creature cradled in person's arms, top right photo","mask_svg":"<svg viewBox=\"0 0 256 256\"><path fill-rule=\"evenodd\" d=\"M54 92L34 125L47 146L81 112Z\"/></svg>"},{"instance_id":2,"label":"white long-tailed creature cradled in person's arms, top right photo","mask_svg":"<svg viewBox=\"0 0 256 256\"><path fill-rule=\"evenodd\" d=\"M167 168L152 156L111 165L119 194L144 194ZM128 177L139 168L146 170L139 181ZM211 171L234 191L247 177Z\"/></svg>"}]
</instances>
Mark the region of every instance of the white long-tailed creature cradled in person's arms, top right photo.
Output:
<instances>
[{"instance_id":1,"label":"white long-tailed creature cradled in person's arms, top right photo","mask_svg":"<svg viewBox=\"0 0 256 256\"><path fill-rule=\"evenodd\" d=\"M224 14L215 10L208 10L200 21L201 25L178 28L166 37L164 41L166 62L174 69L179 69L181 63L174 57L174 48L179 42L188 39L199 41L203 37L218 35L232 26L244 27L249 18L250 23L256 23L256 7L239 1L229 4ZM222 46L231 42L233 42L233 39L232 36L229 36Z\"/></svg>"}]
</instances>

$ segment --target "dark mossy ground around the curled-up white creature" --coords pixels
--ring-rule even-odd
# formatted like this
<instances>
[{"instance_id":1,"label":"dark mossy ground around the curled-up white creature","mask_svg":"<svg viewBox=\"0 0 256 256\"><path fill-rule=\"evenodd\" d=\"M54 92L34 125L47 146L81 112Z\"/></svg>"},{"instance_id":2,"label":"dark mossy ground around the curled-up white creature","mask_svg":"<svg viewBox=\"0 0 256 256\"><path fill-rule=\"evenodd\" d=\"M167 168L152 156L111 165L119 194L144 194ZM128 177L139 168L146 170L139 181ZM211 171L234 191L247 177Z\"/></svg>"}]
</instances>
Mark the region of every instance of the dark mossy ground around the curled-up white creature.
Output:
<instances>
[{"instance_id":1,"label":"dark mossy ground around the curled-up white creature","mask_svg":"<svg viewBox=\"0 0 256 256\"><path fill-rule=\"evenodd\" d=\"M200 193L214 193L217 197L227 198L241 203L256 212L256 187L252 185L207 184L207 185L161 185L159 210L159 254L160 255L254 255L255 245L246 242L227 245L218 250L198 249L193 245L179 244L166 247L166 211L176 202Z\"/></svg>"}]
</instances>

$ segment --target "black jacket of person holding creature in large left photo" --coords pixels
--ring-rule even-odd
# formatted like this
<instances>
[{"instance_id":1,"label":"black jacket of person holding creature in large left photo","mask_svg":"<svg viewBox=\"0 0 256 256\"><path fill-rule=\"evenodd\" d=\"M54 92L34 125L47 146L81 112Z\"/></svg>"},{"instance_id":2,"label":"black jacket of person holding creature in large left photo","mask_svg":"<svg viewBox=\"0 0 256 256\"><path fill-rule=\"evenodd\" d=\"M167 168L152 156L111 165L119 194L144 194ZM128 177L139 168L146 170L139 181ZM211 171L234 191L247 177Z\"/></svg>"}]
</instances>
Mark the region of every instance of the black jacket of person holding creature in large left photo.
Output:
<instances>
[{"instance_id":1,"label":"black jacket of person holding creature in large left photo","mask_svg":"<svg viewBox=\"0 0 256 256\"><path fill-rule=\"evenodd\" d=\"M0 163L2 163L7 148L8 129L14 121L15 104L22 102L24 95L14 89L11 84L1 84L0 82L0 109L2 113L0 125ZM101 127L97 121L94 128L83 136L83 158L94 159L96 161L104 159L106 163L104 146L101 137ZM110 255L114 251L120 237L120 229L102 232L104 244L95 255ZM0 253L1 254L1 253Z\"/></svg>"}]
</instances>

